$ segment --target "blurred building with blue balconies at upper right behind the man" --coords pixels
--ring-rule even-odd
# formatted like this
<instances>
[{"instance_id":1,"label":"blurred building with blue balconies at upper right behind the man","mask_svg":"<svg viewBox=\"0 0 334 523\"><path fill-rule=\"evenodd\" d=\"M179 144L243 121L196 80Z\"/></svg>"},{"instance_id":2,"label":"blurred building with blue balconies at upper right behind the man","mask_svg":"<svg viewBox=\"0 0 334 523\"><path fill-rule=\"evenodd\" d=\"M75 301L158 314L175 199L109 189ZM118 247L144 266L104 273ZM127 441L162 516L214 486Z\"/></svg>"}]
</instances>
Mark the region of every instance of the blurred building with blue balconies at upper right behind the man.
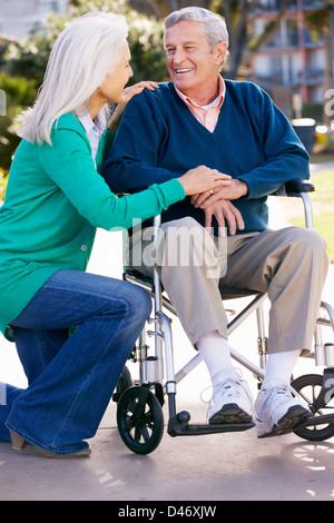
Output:
<instances>
[{"instance_id":1,"label":"blurred building with blue balconies at upper right behind the man","mask_svg":"<svg viewBox=\"0 0 334 523\"><path fill-rule=\"evenodd\" d=\"M262 0L261 4L250 20L254 34L263 33L267 22L277 19L281 1ZM324 32L311 32L305 21L307 12L323 7L323 0L288 0L278 30L250 59L250 79L266 89L287 116L292 116L293 99L322 105L331 87L326 66L331 69L330 37L326 40Z\"/></svg>"}]
</instances>

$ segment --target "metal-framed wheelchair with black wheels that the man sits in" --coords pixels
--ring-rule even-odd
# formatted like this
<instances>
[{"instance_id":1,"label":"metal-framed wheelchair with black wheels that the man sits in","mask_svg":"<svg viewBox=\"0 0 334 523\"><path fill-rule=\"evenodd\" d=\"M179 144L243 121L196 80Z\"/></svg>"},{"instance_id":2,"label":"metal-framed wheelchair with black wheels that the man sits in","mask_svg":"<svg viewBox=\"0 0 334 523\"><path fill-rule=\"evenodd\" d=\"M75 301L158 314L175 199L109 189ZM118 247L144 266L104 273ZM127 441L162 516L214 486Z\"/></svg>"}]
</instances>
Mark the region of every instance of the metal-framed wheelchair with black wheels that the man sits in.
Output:
<instances>
[{"instance_id":1,"label":"metal-framed wheelchair with black wheels that the man sits in","mask_svg":"<svg viewBox=\"0 0 334 523\"><path fill-rule=\"evenodd\" d=\"M312 204L308 193L314 190L313 184L306 180L293 180L282 187L274 196L301 198L304 206L305 226L313 227ZM157 238L161 217L154 218L154 238ZM143 276L136 270L125 267L124 279L145 287L154 300L154 316L148 319L129 359L139 364L139 379L132 381L128 366L125 366L112 399L117 403L117 426L125 445L136 454L154 452L163 437L165 397L168 398L167 433L171 437L194 436L223 432L240 432L252 428L254 423L243 424L191 424L190 414L177 412L176 385L184 379L200 362L197 353L190 361L175 373L173 355L171 319L166 313L176 315L175 309L165 295L157 270L154 278ZM261 388L265 376L267 358L267 338L264 322L264 302L266 294L227 289L223 300L250 297L250 303L238 314L234 313L228 323L227 333L235 332L253 313L257 319L257 347L259 364L245 358L232 349L232 357L252 372ZM149 328L147 330L147 328ZM323 342L323 330L330 333L330 342ZM295 394L307 403L312 416L299 423L294 433L308 441L324 441L334 436L334 308L326 302L321 303L321 309L314 333L314 351L308 356L316 366L324 367L323 374L305 374L292 378L291 386ZM147 345L147 337L154 338L154 349ZM165 371L165 373L164 373ZM166 378L164 378L166 375Z\"/></svg>"}]
</instances>

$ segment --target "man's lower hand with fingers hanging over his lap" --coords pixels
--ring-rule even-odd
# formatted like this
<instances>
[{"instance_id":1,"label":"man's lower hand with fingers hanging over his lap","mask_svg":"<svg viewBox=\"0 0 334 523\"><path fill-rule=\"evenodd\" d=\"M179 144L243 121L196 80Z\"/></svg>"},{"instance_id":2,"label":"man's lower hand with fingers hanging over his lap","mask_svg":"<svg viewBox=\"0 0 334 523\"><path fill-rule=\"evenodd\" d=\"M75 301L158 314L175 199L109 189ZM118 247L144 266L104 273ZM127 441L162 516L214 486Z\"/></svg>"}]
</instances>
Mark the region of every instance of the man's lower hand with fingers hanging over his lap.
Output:
<instances>
[{"instance_id":1,"label":"man's lower hand with fingers hanging over his lap","mask_svg":"<svg viewBox=\"0 0 334 523\"><path fill-rule=\"evenodd\" d=\"M229 200L222 199L210 206L206 206L204 213L205 227L210 229L213 216L215 216L222 236L225 236L226 223L232 236L236 234L237 229L243 230L245 228L240 211Z\"/></svg>"}]
</instances>

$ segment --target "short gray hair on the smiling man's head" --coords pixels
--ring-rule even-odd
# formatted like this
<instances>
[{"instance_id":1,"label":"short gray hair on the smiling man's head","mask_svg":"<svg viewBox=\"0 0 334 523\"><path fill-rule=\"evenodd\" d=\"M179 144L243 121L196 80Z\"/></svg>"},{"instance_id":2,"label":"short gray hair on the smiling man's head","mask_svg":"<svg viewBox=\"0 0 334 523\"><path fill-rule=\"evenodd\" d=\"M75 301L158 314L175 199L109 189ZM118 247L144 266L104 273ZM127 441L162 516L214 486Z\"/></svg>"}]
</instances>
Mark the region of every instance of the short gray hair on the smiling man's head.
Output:
<instances>
[{"instance_id":1,"label":"short gray hair on the smiling man's head","mask_svg":"<svg viewBox=\"0 0 334 523\"><path fill-rule=\"evenodd\" d=\"M203 32L209 42L212 51L218 42L225 42L228 47L228 32L226 22L225 19L219 14L216 14L208 9L198 7L184 8L179 11L174 11L168 14L164 22L165 30L184 20L203 22Z\"/></svg>"}]
</instances>

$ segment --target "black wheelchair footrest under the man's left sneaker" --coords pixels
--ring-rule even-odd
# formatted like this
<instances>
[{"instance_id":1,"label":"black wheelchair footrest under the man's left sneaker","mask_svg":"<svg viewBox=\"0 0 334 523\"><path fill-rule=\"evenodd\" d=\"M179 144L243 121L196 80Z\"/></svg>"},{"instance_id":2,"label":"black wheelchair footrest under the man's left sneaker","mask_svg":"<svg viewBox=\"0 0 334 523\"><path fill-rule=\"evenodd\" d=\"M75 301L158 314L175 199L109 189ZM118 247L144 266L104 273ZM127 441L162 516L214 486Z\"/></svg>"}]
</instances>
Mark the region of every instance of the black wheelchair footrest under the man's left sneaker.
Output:
<instances>
[{"instance_id":1,"label":"black wheelchair footrest under the man's left sneaker","mask_svg":"<svg viewBox=\"0 0 334 523\"><path fill-rule=\"evenodd\" d=\"M188 412L180 412L171 416L168 422L167 432L169 436L200 436L204 434L217 434L220 432L240 432L253 428L255 423L229 423L229 424L213 424L213 425L189 425L190 414Z\"/></svg>"}]
</instances>

